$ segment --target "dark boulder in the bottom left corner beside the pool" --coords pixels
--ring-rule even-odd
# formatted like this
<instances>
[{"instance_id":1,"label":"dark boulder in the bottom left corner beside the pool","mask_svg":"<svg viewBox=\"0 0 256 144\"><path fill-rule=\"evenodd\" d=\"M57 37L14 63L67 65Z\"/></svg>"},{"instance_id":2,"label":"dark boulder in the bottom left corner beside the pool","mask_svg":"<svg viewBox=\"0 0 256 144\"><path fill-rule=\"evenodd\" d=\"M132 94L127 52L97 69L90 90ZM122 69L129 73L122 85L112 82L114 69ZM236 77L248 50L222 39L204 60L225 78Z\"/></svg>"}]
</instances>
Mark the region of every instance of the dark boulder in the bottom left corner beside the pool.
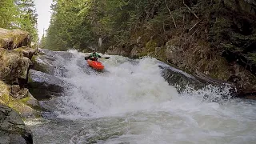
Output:
<instances>
[{"instance_id":1,"label":"dark boulder in the bottom left corner beside the pool","mask_svg":"<svg viewBox=\"0 0 256 144\"><path fill-rule=\"evenodd\" d=\"M17 112L0 104L0 143L32 144L33 135Z\"/></svg>"}]
</instances>

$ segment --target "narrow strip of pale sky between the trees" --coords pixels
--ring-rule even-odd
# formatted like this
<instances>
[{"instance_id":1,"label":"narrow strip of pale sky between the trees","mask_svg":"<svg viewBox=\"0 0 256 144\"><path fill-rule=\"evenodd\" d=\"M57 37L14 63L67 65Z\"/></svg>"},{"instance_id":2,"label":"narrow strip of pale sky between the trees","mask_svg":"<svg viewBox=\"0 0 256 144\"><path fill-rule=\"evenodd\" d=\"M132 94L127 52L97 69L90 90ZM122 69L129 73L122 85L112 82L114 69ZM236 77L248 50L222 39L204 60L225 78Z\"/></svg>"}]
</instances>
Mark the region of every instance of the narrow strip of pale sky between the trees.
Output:
<instances>
[{"instance_id":1,"label":"narrow strip of pale sky between the trees","mask_svg":"<svg viewBox=\"0 0 256 144\"><path fill-rule=\"evenodd\" d=\"M35 0L35 8L38 14L38 34L42 38L43 29L47 30L50 24L50 5L52 0Z\"/></svg>"}]
</instances>

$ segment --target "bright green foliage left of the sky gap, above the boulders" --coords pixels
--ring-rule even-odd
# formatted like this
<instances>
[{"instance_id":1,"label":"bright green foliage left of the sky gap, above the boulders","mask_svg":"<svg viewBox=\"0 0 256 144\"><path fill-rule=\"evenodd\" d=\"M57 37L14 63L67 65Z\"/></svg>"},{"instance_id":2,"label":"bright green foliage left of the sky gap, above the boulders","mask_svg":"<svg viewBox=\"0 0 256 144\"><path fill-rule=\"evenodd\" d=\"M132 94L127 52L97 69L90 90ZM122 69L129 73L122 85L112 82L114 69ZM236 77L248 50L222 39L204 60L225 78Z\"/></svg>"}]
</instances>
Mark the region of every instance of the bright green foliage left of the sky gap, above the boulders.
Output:
<instances>
[{"instance_id":1,"label":"bright green foliage left of the sky gap, above the boulders","mask_svg":"<svg viewBox=\"0 0 256 144\"><path fill-rule=\"evenodd\" d=\"M29 31L38 40L34 0L0 0L0 27Z\"/></svg>"}]
</instances>

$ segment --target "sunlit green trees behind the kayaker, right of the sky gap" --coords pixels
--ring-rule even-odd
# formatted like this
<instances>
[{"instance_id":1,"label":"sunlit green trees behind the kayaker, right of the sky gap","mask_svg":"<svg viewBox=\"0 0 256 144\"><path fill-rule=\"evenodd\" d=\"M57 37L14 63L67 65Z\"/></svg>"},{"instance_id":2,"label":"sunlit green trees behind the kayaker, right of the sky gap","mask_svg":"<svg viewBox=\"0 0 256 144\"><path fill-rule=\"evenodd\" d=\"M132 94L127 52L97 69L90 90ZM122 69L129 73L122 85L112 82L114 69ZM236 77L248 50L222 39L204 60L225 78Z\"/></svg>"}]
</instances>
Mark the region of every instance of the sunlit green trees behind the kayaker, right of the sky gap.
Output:
<instances>
[{"instance_id":1,"label":"sunlit green trees behind the kayaker, right of the sky gap","mask_svg":"<svg viewBox=\"0 0 256 144\"><path fill-rule=\"evenodd\" d=\"M98 38L102 38L105 47L113 46L127 41L130 34L142 26L146 29L154 26L154 30L161 33L165 23L171 23L171 27L176 26L170 18L170 10L176 10L178 6L182 6L182 2L55 0L45 45L51 50L82 50L88 46L97 46Z\"/></svg>"}]
</instances>

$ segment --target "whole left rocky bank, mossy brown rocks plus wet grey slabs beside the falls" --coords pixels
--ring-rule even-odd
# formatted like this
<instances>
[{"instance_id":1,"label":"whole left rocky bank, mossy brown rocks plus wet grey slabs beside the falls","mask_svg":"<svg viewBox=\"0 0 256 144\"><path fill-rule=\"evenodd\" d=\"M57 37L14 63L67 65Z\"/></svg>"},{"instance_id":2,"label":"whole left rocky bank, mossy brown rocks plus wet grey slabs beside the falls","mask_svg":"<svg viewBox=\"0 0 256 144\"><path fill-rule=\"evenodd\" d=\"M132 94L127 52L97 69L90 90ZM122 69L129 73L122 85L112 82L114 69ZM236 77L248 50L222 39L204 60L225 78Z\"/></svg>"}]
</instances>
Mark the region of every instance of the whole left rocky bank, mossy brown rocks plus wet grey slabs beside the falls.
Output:
<instances>
[{"instance_id":1,"label":"whole left rocky bank, mossy brown rocks plus wet grey slabs beside the falls","mask_svg":"<svg viewBox=\"0 0 256 144\"><path fill-rule=\"evenodd\" d=\"M41 50L23 30L0 28L0 143L30 144L33 134L22 118L41 118L49 112L39 101L61 96L65 83L55 75L66 71L58 58L68 52ZM58 75L57 74L57 75Z\"/></svg>"}]
</instances>

